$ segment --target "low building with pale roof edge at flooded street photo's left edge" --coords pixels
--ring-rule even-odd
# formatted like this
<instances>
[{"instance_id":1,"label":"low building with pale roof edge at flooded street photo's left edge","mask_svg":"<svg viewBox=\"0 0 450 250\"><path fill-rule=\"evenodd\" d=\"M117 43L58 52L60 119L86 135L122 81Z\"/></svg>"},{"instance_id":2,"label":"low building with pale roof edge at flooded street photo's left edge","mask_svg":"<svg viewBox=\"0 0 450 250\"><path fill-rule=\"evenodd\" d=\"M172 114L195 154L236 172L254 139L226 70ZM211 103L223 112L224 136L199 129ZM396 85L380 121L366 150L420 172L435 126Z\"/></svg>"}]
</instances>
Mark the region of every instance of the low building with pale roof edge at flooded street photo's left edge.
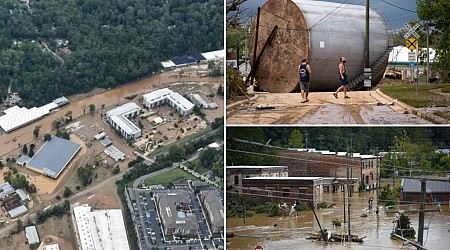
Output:
<instances>
[{"instance_id":1,"label":"low building with pale roof edge at flooded street photo's left edge","mask_svg":"<svg viewBox=\"0 0 450 250\"><path fill-rule=\"evenodd\" d=\"M242 186L243 178L288 177L287 166L227 166L227 186Z\"/></svg>"}]
</instances>

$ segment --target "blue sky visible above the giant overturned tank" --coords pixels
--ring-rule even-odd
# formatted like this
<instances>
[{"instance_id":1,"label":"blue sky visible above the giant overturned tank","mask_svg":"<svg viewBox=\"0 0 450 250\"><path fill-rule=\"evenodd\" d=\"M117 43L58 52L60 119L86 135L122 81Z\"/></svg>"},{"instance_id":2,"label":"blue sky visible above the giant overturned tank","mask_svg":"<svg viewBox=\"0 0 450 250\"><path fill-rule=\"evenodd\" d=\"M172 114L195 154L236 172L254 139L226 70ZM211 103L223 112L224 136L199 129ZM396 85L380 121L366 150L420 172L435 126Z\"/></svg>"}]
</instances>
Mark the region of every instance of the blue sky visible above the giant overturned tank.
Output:
<instances>
[{"instance_id":1,"label":"blue sky visible above the giant overturned tank","mask_svg":"<svg viewBox=\"0 0 450 250\"><path fill-rule=\"evenodd\" d=\"M318 0L318 1L335 2L335 3L346 2L348 4L366 5L366 0ZM401 29L403 28L403 25L406 22L413 19L418 19L416 13L402 10L400 8L396 8L394 6L385 3L388 2L407 10L417 11L415 0L383 0L383 1L370 0L370 6L371 8L374 8L382 12L389 19L388 23L391 23L392 27L388 28ZM247 12L245 14L249 16L255 16L254 13L256 13L257 7L262 6L265 2L266 0L247 0L247 2L244 5L244 8L247 9Z\"/></svg>"}]
</instances>

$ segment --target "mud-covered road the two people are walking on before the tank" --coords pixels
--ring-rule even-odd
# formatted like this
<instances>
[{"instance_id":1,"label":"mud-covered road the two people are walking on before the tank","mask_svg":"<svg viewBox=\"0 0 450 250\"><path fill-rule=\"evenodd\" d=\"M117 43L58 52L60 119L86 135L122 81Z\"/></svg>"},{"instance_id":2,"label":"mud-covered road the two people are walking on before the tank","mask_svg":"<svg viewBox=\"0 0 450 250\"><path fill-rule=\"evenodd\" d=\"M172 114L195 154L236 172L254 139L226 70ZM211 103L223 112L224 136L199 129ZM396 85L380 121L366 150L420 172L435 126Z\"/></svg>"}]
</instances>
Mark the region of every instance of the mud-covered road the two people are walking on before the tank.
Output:
<instances>
[{"instance_id":1,"label":"mud-covered road the two people are walking on before the tank","mask_svg":"<svg viewBox=\"0 0 450 250\"><path fill-rule=\"evenodd\" d=\"M336 99L331 92L314 92L300 103L299 93L265 93L233 108L227 124L431 124L391 105L393 100L376 91L350 92ZM256 109L273 107L274 109Z\"/></svg>"}]
</instances>

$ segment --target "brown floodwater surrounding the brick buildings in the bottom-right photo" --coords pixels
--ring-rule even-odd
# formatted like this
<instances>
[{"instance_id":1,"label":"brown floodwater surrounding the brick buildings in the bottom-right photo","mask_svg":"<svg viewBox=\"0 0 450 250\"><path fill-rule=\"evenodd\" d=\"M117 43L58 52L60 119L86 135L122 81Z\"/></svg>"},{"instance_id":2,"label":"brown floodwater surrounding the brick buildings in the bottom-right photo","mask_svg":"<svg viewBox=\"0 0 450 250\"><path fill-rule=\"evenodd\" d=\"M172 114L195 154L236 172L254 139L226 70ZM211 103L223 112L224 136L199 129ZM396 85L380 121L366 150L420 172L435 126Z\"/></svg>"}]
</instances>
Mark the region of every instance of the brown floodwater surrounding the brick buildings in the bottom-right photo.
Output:
<instances>
[{"instance_id":1,"label":"brown floodwater surrounding the brick buildings in the bottom-right photo","mask_svg":"<svg viewBox=\"0 0 450 250\"><path fill-rule=\"evenodd\" d=\"M364 243L338 242L325 245L323 242L306 240L311 233L319 230L312 212L297 212L293 217L267 217L255 214L254 217L246 218L244 225L242 218L227 218L227 233L248 234L270 237L270 239L234 237L227 239L227 249L255 249L260 245L264 249L401 249L402 241L390 239L393 229L395 214L386 214L384 209L377 216L375 212L367 211L368 197L374 197L374 193L353 194L351 209L351 233L360 237L366 236ZM333 233L346 231L344 225L333 227L331 221L339 218L343 221L343 201L341 194L326 194L321 197L327 203L336 203L334 208L321 209L317 211L318 218L323 228ZM374 202L375 204L375 202ZM375 207L375 206L374 206ZM427 207L427 208L432 208ZM407 209L407 207L400 207ZM448 206L442 206L441 213L426 213L425 226L429 223L429 232L424 232L425 247L427 249L450 249L450 213ZM368 216L362 218L365 213ZM410 215L412 226L418 226L418 214ZM274 224L277 224L274 227ZM347 224L347 223L346 223ZM346 225L345 225L346 226ZM415 249L405 246L403 249Z\"/></svg>"}]
</instances>

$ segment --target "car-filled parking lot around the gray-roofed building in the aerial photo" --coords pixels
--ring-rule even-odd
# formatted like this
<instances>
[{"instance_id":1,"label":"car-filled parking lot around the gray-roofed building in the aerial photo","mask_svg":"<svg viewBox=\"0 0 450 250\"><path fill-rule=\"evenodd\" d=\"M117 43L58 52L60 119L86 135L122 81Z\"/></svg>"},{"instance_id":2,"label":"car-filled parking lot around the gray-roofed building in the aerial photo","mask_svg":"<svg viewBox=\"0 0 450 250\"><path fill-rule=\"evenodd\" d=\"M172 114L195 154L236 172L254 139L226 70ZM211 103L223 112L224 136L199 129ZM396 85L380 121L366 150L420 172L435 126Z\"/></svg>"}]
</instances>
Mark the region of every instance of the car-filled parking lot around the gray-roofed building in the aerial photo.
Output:
<instances>
[{"instance_id":1,"label":"car-filled parking lot around the gray-roofed building in the aerial photo","mask_svg":"<svg viewBox=\"0 0 450 250\"><path fill-rule=\"evenodd\" d=\"M130 191L134 192L132 196L135 197L135 201L132 205L142 249L151 250L154 248L170 248L171 246L186 246L186 249L223 249L223 236L212 239L212 234L198 196L189 188L185 188L185 190L190 191L190 206L186 212L195 214L196 221L199 225L199 231L196 237L164 234L161 216L159 215L155 199L152 195L157 194L158 191L167 192L167 190L133 189Z\"/></svg>"}]
</instances>

